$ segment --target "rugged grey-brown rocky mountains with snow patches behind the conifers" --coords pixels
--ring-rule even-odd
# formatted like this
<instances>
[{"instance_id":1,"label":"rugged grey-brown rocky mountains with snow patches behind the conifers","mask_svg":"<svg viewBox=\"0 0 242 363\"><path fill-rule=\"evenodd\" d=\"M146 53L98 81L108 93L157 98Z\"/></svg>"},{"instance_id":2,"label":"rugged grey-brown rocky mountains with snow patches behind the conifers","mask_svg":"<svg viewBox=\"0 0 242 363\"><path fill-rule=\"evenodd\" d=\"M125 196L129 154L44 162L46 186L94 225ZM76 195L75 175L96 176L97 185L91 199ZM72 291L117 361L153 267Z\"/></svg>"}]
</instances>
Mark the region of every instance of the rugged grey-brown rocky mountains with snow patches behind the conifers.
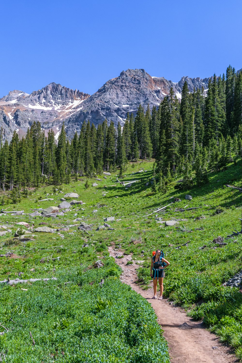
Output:
<instances>
[{"instance_id":1,"label":"rugged grey-brown rocky mountains with snow patches behind the conifers","mask_svg":"<svg viewBox=\"0 0 242 363\"><path fill-rule=\"evenodd\" d=\"M128 111L135 114L140 103L145 108L148 103L151 108L157 107L171 87L181 98L185 81L189 91L202 86L206 89L208 85L208 78L182 77L179 82L172 82L151 77L144 69L128 69L91 96L54 82L30 95L14 90L0 99L0 127L3 126L4 138L9 140L14 130L24 136L28 127L39 121L46 133L53 128L57 138L65 121L67 136L72 137L80 131L84 120L98 125L107 118L117 125L118 121L124 122Z\"/></svg>"}]
</instances>

